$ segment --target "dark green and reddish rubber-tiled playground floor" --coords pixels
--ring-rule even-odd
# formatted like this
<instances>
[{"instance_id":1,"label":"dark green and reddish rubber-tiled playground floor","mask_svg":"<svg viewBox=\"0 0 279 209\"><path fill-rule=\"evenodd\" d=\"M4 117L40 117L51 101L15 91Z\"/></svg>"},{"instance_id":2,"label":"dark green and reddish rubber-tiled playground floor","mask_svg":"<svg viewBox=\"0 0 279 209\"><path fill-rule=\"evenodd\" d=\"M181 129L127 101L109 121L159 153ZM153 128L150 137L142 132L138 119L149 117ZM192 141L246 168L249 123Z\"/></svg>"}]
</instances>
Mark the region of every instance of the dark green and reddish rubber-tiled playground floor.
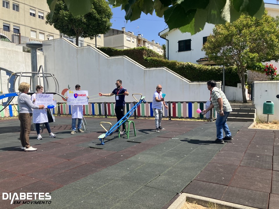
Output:
<instances>
[{"instance_id":1,"label":"dark green and reddish rubber-tiled playground floor","mask_svg":"<svg viewBox=\"0 0 279 209\"><path fill-rule=\"evenodd\" d=\"M86 118L85 133L70 135L71 118L56 117L56 138L37 140L35 152L21 151L19 120L0 120L0 208L37 208L10 204L3 192L51 192L40 208L167 208L180 192L255 208L279 205L279 131L248 129L228 122L234 140L212 144L214 122L134 120L136 134L113 134L100 145L101 121ZM91 147L91 148L90 148ZM18 200L19 201L19 200Z\"/></svg>"}]
</instances>

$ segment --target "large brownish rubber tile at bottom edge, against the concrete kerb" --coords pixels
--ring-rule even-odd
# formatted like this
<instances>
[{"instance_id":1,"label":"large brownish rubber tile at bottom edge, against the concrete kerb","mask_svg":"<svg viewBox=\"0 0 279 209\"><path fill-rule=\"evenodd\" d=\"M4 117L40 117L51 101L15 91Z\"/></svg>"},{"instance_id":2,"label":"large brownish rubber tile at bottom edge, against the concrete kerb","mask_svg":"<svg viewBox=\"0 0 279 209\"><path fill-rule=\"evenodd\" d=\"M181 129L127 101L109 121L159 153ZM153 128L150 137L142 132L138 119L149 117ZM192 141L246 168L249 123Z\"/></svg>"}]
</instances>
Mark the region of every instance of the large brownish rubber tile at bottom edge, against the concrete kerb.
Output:
<instances>
[{"instance_id":1,"label":"large brownish rubber tile at bottom edge, against the concrete kerb","mask_svg":"<svg viewBox=\"0 0 279 209\"><path fill-rule=\"evenodd\" d=\"M268 192L259 192L237 187L228 187L221 200L236 203L239 205L266 209L268 206L268 199Z\"/></svg>"}]
</instances>

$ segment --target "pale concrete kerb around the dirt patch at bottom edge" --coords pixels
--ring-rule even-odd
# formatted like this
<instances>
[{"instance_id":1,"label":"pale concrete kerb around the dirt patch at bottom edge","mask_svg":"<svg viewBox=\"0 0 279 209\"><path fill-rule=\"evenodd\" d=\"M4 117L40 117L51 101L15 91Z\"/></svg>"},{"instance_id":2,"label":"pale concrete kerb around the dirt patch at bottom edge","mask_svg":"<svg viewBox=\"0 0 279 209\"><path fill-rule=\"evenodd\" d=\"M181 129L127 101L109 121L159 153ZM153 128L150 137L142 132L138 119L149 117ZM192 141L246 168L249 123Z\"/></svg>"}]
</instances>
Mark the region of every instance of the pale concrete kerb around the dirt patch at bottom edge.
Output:
<instances>
[{"instance_id":1,"label":"pale concrete kerb around the dirt patch at bottom edge","mask_svg":"<svg viewBox=\"0 0 279 209\"><path fill-rule=\"evenodd\" d=\"M208 203L213 203L218 206L219 209L257 209L249 206L238 205L235 203L229 203L217 199L212 199L208 197L202 197L194 194L182 193L180 196L169 206L168 209L181 209L184 203L187 201L195 202L198 205L208 207Z\"/></svg>"}]
</instances>

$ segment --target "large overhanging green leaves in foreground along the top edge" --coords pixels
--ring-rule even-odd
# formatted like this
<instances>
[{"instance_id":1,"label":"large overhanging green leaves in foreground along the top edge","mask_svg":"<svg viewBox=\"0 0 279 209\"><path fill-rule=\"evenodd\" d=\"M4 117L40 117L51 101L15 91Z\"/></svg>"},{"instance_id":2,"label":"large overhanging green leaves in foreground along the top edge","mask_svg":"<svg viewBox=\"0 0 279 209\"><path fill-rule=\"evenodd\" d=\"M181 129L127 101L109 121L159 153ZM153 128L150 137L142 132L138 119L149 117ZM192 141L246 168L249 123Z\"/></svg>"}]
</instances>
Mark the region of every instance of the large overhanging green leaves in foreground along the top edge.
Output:
<instances>
[{"instance_id":1,"label":"large overhanging green leaves in foreground along the top edge","mask_svg":"<svg viewBox=\"0 0 279 209\"><path fill-rule=\"evenodd\" d=\"M57 0L47 0L51 14ZM65 0L69 11L74 15L90 12L90 5L95 0ZM125 10L125 19L139 19L142 12L163 17L169 30L179 28L183 33L192 35L203 30L205 23L232 23L242 13L251 17L261 18L264 13L263 0L108 0L114 7L121 6Z\"/></svg>"}]
</instances>

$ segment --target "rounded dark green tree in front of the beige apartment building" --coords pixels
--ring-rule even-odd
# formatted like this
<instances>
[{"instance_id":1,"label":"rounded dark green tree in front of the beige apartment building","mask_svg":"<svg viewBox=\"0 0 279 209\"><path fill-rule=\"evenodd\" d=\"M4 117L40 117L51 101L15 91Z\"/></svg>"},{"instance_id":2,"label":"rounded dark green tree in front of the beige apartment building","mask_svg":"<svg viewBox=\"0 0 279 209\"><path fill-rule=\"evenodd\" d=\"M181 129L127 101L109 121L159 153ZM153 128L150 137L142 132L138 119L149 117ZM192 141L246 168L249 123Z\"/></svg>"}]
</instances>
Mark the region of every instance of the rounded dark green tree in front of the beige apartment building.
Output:
<instances>
[{"instance_id":1,"label":"rounded dark green tree in front of the beige apartment building","mask_svg":"<svg viewBox=\"0 0 279 209\"><path fill-rule=\"evenodd\" d=\"M65 2L67 3L68 0L56 1L52 18L50 13L46 16L46 24L53 25L60 33L69 37L76 37L77 46L78 37L93 39L96 35L110 30L112 12L105 0L92 1L89 12L75 17L68 10Z\"/></svg>"}]
</instances>

